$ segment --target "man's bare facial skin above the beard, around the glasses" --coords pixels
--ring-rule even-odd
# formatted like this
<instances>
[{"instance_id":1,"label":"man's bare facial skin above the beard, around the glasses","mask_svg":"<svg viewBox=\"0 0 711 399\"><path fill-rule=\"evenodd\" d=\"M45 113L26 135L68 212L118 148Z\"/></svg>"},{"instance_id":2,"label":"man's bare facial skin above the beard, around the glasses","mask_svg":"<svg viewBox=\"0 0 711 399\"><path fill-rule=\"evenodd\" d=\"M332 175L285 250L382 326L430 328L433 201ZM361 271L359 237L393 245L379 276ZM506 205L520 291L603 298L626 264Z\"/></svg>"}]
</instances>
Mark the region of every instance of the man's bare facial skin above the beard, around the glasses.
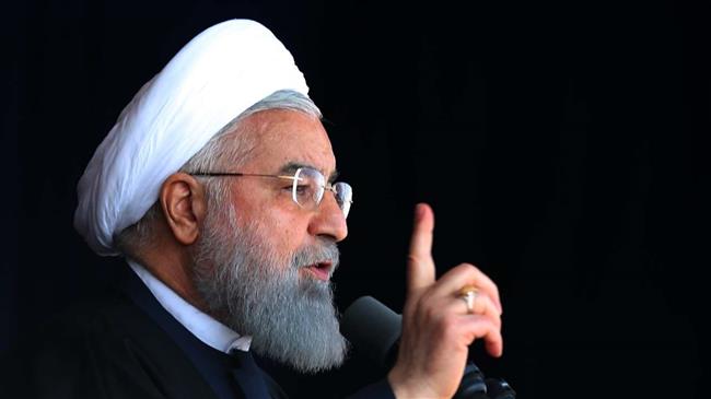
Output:
<instances>
[{"instance_id":1,"label":"man's bare facial skin above the beard, around the glasses","mask_svg":"<svg viewBox=\"0 0 711 399\"><path fill-rule=\"evenodd\" d=\"M295 165L319 171L326 179L336 173L330 141L316 118L294 110L271 109L246 118L241 130L252 134L249 142L255 143L248 161L240 167L241 173L292 175ZM258 221L279 254L293 254L324 238L340 242L348 234L346 219L328 191L318 209L312 211L292 201L291 180L240 177L230 188L238 219L242 223ZM323 275L313 271L301 270L301 278Z\"/></svg>"}]
</instances>

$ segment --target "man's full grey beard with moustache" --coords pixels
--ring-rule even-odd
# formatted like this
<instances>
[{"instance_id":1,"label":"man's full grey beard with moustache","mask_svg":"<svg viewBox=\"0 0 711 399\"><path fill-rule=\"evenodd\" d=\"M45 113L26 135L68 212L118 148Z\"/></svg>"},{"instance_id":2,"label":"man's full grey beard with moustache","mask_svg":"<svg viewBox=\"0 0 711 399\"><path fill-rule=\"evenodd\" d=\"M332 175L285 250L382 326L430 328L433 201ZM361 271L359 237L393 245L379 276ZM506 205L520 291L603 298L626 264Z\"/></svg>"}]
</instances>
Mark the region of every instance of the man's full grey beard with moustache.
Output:
<instances>
[{"instance_id":1,"label":"man's full grey beard with moustache","mask_svg":"<svg viewBox=\"0 0 711 399\"><path fill-rule=\"evenodd\" d=\"M299 273L322 261L331 262L333 273L339 258L336 244L322 240L283 259L256 222L238 228L232 207L224 218L219 213L208 212L194 257L196 287L209 312L252 336L250 350L296 371L341 365L348 342L340 335L331 284Z\"/></svg>"}]
</instances>

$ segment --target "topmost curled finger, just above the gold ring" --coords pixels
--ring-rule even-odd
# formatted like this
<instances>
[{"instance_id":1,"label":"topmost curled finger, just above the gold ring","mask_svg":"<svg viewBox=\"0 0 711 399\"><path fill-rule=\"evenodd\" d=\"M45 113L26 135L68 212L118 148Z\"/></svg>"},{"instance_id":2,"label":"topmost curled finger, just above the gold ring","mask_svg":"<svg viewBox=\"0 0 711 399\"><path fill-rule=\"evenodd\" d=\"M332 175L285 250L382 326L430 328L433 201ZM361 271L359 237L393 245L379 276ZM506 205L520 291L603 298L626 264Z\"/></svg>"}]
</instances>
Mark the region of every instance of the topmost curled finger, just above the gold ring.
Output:
<instances>
[{"instance_id":1,"label":"topmost curled finger, just above the gold ring","mask_svg":"<svg viewBox=\"0 0 711 399\"><path fill-rule=\"evenodd\" d=\"M487 294L491 298L499 314L503 312L497 284L481 270L469 263L462 263L444 273L438 280L432 294L442 296L456 294L465 285L476 286L479 292Z\"/></svg>"}]
</instances>

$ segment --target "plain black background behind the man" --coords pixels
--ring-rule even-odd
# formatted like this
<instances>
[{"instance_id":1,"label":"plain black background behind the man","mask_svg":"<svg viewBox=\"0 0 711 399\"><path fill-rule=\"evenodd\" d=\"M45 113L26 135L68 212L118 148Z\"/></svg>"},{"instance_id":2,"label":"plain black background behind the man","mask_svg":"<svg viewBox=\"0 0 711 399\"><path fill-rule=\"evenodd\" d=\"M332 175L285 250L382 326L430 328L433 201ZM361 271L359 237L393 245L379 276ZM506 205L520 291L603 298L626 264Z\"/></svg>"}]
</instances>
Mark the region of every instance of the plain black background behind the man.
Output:
<instances>
[{"instance_id":1,"label":"plain black background behind the man","mask_svg":"<svg viewBox=\"0 0 711 399\"><path fill-rule=\"evenodd\" d=\"M709 9L671 1L26 1L2 12L0 349L95 294L75 184L138 89L193 36L260 21L292 51L356 189L345 309L404 300L413 204L440 273L499 284L520 398L696 398L709 261ZM112 262L109 262L112 263ZM285 375L285 374L284 374ZM328 397L376 377L283 384Z\"/></svg>"}]
</instances>

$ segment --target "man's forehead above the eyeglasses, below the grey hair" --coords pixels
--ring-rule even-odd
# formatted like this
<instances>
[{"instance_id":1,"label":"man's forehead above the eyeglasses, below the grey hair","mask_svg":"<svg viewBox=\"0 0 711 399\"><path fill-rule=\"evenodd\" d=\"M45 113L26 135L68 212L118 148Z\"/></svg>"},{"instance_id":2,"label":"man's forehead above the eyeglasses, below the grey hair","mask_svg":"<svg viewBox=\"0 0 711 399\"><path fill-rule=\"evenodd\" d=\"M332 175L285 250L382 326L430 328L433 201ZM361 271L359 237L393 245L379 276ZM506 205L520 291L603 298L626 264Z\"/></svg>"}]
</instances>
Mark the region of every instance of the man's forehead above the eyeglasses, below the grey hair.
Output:
<instances>
[{"instance_id":1,"label":"man's forehead above the eyeglasses, below the grey hair","mask_svg":"<svg viewBox=\"0 0 711 399\"><path fill-rule=\"evenodd\" d=\"M320 120L290 109L267 109L242 121L243 134L254 146L245 173L278 173L288 164L302 164L325 176L336 168L336 157Z\"/></svg>"}]
</instances>

